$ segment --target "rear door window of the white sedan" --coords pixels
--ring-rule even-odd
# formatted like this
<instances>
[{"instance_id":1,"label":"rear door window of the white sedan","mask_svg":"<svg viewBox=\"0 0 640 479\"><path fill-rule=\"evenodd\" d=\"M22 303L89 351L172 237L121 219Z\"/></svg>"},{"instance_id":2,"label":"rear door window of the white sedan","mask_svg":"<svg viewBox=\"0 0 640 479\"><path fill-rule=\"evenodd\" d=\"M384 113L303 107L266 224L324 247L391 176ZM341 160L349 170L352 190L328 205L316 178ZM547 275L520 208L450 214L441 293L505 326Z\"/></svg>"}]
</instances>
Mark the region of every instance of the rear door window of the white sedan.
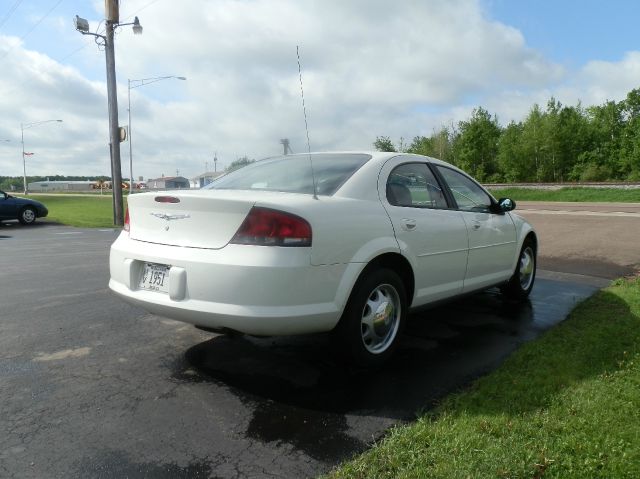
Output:
<instances>
[{"instance_id":1,"label":"rear door window of the white sedan","mask_svg":"<svg viewBox=\"0 0 640 479\"><path fill-rule=\"evenodd\" d=\"M447 208L442 189L424 163L396 167L387 180L387 201L394 206Z\"/></svg>"}]
</instances>

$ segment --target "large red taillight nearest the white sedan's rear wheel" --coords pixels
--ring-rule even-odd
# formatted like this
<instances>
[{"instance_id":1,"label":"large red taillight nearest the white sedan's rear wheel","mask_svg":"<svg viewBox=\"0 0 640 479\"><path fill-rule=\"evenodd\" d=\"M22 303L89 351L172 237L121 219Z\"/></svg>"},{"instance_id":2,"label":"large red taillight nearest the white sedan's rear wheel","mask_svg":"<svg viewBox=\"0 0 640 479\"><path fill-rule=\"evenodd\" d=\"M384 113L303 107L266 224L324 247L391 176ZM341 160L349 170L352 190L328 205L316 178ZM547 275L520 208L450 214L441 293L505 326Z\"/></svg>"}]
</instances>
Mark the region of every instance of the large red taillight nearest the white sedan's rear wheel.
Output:
<instances>
[{"instance_id":1,"label":"large red taillight nearest the white sedan's rear wheel","mask_svg":"<svg viewBox=\"0 0 640 479\"><path fill-rule=\"evenodd\" d=\"M254 206L231 243L259 246L311 246L311 225L299 216Z\"/></svg>"}]
</instances>

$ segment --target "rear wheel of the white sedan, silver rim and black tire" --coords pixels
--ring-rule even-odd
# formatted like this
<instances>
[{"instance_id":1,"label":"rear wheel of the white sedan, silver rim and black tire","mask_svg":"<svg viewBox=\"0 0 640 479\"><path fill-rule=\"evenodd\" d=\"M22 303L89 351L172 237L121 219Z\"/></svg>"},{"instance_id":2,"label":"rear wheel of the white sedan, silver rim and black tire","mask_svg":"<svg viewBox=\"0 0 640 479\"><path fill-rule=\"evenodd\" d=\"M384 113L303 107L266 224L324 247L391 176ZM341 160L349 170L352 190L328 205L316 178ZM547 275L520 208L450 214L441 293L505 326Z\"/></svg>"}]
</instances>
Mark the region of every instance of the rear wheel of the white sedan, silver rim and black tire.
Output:
<instances>
[{"instance_id":1,"label":"rear wheel of the white sedan, silver rim and black tire","mask_svg":"<svg viewBox=\"0 0 640 479\"><path fill-rule=\"evenodd\" d=\"M402 280L390 269L378 269L358 280L334 332L347 360L380 366L397 348L406 316Z\"/></svg>"}]
</instances>

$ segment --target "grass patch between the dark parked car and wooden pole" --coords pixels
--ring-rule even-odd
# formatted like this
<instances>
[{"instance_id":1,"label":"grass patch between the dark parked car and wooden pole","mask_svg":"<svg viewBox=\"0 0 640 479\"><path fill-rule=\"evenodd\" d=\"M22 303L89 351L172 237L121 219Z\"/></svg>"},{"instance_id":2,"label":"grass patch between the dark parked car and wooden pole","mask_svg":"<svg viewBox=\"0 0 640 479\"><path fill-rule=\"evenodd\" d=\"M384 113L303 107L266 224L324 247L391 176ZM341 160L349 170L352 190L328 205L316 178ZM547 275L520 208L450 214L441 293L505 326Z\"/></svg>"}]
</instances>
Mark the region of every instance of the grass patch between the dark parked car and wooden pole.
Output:
<instances>
[{"instance_id":1,"label":"grass patch between the dark parked car and wooden pole","mask_svg":"<svg viewBox=\"0 0 640 479\"><path fill-rule=\"evenodd\" d=\"M29 198L44 203L49 209L49 216L44 221L55 221L82 228L108 228L113 226L111 195L31 194ZM124 204L126 208L126 198Z\"/></svg>"}]
</instances>

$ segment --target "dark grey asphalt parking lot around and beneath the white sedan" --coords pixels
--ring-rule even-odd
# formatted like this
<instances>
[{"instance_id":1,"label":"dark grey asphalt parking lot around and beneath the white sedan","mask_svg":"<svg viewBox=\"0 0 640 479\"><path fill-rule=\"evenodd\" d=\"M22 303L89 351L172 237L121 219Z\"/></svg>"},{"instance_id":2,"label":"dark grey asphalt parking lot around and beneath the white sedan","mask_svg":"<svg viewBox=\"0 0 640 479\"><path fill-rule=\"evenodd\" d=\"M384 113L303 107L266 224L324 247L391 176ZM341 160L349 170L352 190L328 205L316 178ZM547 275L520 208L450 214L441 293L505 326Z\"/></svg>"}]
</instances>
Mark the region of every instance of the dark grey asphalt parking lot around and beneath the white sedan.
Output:
<instances>
[{"instance_id":1,"label":"dark grey asphalt parking lot around and beneath the white sedan","mask_svg":"<svg viewBox=\"0 0 640 479\"><path fill-rule=\"evenodd\" d=\"M121 302L107 289L115 234L0 226L0 477L315 476L617 274L541 271L528 304L489 291L428 310L365 373L323 335L215 336Z\"/></svg>"}]
</instances>

